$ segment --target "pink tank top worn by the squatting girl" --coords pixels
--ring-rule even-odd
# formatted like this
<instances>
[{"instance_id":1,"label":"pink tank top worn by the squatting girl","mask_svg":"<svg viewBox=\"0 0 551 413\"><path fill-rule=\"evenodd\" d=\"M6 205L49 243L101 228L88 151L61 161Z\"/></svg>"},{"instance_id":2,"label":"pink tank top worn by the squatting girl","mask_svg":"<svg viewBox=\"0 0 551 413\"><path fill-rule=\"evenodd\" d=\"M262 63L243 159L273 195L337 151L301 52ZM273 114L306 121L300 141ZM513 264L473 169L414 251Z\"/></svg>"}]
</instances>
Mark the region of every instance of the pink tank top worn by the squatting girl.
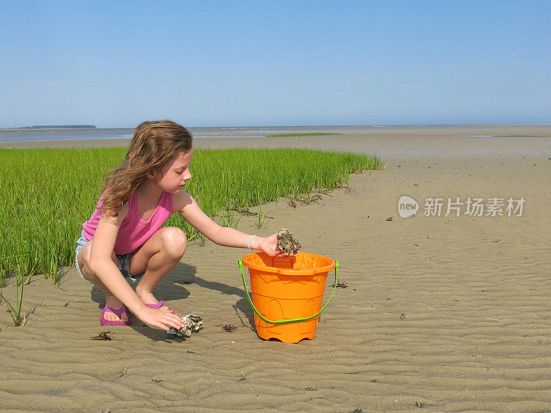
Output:
<instances>
[{"instance_id":1,"label":"pink tank top worn by the squatting girl","mask_svg":"<svg viewBox=\"0 0 551 413\"><path fill-rule=\"evenodd\" d=\"M103 194L105 195L105 193ZM99 219L101 218L101 210L98 209L103 204L103 195L98 201L98 205L92 213L90 220L82 224L84 237L91 241L96 233ZM165 223L170 215L174 212L172 207L172 194L163 191L160 195L159 203L154 213L148 221L144 221L138 215L138 205L136 204L136 192L130 195L128 200L128 215L123 220L121 228L118 230L115 242L115 254L122 255L136 251L138 247L145 244L158 229Z\"/></svg>"}]
</instances>

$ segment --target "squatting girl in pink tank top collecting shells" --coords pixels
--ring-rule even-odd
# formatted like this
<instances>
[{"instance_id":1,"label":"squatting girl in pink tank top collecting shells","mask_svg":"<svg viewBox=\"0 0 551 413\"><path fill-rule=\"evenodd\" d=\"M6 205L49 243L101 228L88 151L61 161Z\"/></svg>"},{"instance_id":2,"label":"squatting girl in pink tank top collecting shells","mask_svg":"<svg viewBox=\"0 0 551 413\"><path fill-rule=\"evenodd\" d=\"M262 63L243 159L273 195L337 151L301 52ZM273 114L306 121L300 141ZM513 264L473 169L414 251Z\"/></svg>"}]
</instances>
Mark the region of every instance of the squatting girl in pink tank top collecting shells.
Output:
<instances>
[{"instance_id":1,"label":"squatting girl in pink tank top collecting shells","mask_svg":"<svg viewBox=\"0 0 551 413\"><path fill-rule=\"evenodd\" d=\"M103 195L82 225L75 265L105 294L103 326L127 326L128 308L149 326L183 327L182 319L152 294L185 252L183 231L161 228L174 212L216 244L288 255L277 248L277 234L263 238L222 227L183 191L191 179L191 138L170 120L138 125L123 163L105 179ZM135 291L126 279L137 282Z\"/></svg>"}]
</instances>

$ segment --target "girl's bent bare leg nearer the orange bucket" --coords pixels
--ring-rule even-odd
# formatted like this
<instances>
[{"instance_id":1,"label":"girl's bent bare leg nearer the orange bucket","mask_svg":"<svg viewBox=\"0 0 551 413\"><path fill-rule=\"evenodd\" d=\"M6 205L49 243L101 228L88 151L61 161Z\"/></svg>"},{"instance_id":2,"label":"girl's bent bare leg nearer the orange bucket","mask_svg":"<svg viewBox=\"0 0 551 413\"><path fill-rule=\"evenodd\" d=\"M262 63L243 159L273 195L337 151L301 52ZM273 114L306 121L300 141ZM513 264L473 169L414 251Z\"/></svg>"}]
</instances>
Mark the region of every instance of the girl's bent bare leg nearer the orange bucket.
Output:
<instances>
[{"instance_id":1,"label":"girl's bent bare leg nearer the orange bucket","mask_svg":"<svg viewBox=\"0 0 551 413\"><path fill-rule=\"evenodd\" d=\"M140 274L145 271L136 285L136 294L145 304L157 304L153 288L182 259L187 241L185 234L173 226L159 229L132 255L130 273ZM160 307L168 310L167 306Z\"/></svg>"}]
</instances>

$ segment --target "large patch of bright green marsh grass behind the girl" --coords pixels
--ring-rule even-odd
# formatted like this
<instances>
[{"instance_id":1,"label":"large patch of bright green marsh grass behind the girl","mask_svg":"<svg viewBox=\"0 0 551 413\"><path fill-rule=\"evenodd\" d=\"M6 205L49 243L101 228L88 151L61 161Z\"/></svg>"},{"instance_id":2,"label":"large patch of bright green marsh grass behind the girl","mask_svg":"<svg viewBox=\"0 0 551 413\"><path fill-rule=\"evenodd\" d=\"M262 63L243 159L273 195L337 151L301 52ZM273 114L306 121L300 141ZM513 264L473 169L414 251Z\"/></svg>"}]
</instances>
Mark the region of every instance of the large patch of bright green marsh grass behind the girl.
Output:
<instances>
[{"instance_id":1,"label":"large patch of bright green marsh grass behind the girl","mask_svg":"<svg viewBox=\"0 0 551 413\"><path fill-rule=\"evenodd\" d=\"M96 207L104 173L126 151L0 149L0 286L16 271L59 282L61 268L74 264L76 239ZM211 218L236 226L234 209L342 187L349 173L366 169L382 169L380 159L309 149L196 149L185 190ZM165 225L205 241L178 214Z\"/></svg>"}]
</instances>

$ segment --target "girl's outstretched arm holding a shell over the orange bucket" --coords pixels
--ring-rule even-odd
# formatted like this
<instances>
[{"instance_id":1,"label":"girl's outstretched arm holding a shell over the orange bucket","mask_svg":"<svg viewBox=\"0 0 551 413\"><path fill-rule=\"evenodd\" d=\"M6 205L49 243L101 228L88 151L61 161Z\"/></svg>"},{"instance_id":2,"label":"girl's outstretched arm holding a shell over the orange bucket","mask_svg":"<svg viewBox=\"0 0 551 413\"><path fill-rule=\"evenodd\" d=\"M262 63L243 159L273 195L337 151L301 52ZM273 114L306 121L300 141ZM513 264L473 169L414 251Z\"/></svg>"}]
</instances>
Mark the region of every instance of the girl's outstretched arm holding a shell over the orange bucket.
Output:
<instances>
[{"instance_id":1,"label":"girl's outstretched arm holding a shell over the orange bucket","mask_svg":"<svg viewBox=\"0 0 551 413\"><path fill-rule=\"evenodd\" d=\"M242 233L227 226L220 226L200 209L196 200L186 191L172 195L172 202L174 211L178 211L191 226L218 245L247 248L250 240L251 249L262 251L271 257L287 257L289 255L277 247L277 233L269 237L256 236L251 239L251 234Z\"/></svg>"}]
</instances>

